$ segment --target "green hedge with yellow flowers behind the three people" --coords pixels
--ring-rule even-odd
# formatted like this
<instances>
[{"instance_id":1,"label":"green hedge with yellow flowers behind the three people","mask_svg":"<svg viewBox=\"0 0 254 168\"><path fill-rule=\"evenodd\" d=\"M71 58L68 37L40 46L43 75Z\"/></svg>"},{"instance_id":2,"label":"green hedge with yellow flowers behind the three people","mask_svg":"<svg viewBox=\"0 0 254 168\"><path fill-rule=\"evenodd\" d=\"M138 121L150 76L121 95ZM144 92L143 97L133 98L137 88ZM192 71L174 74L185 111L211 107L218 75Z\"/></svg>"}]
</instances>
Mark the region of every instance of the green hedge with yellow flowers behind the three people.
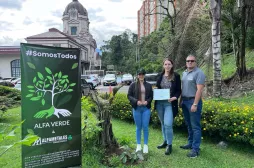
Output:
<instances>
[{"instance_id":1,"label":"green hedge with yellow flowers behind the three people","mask_svg":"<svg viewBox=\"0 0 254 168\"><path fill-rule=\"evenodd\" d=\"M126 94L116 95L110 111L114 117L133 121L132 108ZM254 105L204 100L201 123L203 134L254 146ZM157 113L153 110L150 124L160 125ZM185 126L181 109L175 118L174 126Z\"/></svg>"}]
</instances>

